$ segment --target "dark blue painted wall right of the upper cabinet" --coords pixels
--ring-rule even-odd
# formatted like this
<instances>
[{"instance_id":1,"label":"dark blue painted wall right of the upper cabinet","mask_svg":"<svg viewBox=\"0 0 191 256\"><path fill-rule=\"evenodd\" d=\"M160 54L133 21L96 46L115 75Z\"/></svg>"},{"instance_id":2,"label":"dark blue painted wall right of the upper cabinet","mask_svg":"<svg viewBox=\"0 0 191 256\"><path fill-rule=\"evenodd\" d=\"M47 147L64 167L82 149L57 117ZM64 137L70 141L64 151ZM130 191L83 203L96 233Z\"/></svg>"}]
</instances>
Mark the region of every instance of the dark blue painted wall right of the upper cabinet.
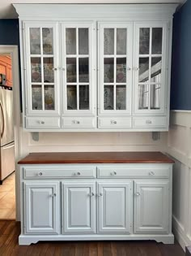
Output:
<instances>
[{"instance_id":1,"label":"dark blue painted wall right of the upper cabinet","mask_svg":"<svg viewBox=\"0 0 191 256\"><path fill-rule=\"evenodd\" d=\"M191 110L191 0L174 15L171 109Z\"/></svg>"}]
</instances>

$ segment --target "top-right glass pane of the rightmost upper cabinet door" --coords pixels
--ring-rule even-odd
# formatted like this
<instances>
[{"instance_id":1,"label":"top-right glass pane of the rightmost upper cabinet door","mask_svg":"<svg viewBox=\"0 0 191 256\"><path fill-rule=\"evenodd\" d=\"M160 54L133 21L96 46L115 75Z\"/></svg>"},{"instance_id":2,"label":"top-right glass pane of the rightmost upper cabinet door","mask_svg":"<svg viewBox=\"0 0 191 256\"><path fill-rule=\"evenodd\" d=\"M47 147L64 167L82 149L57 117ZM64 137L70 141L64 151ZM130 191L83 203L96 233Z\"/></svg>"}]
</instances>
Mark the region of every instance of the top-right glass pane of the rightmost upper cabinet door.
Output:
<instances>
[{"instance_id":1,"label":"top-right glass pane of the rightmost upper cabinet door","mask_svg":"<svg viewBox=\"0 0 191 256\"><path fill-rule=\"evenodd\" d=\"M163 28L152 28L152 54L162 54Z\"/></svg>"}]
</instances>

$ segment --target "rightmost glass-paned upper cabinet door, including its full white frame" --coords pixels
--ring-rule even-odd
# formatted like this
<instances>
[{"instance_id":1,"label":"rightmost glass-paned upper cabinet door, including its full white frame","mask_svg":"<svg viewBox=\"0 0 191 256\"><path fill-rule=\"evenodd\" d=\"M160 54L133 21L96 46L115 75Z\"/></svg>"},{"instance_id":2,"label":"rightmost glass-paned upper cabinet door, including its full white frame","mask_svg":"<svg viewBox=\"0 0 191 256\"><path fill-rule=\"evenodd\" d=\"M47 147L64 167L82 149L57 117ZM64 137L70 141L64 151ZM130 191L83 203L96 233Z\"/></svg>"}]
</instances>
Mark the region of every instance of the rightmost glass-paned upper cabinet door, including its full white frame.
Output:
<instances>
[{"instance_id":1,"label":"rightmost glass-paned upper cabinet door, including its full white frame","mask_svg":"<svg viewBox=\"0 0 191 256\"><path fill-rule=\"evenodd\" d=\"M134 113L164 114L167 24L135 24L134 30Z\"/></svg>"}]
</instances>

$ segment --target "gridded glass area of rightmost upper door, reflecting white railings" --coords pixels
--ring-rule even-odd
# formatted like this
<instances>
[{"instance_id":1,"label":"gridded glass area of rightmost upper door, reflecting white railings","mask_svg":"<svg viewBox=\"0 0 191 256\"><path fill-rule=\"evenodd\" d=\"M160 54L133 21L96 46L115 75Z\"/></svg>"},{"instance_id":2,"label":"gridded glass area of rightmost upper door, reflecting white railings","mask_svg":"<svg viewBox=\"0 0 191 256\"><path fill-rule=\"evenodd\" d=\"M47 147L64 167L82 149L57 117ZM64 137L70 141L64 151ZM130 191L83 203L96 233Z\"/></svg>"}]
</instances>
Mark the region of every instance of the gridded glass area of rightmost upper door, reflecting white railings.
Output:
<instances>
[{"instance_id":1,"label":"gridded glass area of rightmost upper door, reflecting white railings","mask_svg":"<svg viewBox=\"0 0 191 256\"><path fill-rule=\"evenodd\" d=\"M164 102L161 102L163 93L163 76L165 64L165 44L163 35L164 25L148 27L137 27L138 66L135 65L138 84L136 109L139 111L163 111ZM137 60L136 60L137 61ZM137 66L137 67L136 67Z\"/></svg>"}]
</instances>

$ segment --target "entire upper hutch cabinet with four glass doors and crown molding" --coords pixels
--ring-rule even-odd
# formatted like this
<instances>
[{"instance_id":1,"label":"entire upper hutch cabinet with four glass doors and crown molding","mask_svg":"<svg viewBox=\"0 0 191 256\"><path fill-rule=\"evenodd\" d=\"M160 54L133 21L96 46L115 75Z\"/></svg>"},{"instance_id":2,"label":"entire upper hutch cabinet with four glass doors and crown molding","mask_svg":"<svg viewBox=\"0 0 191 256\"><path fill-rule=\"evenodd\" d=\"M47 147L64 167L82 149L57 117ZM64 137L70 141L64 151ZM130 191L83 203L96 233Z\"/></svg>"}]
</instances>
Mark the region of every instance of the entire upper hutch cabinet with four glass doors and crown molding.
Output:
<instances>
[{"instance_id":1,"label":"entire upper hutch cabinet with four glass doors and crown molding","mask_svg":"<svg viewBox=\"0 0 191 256\"><path fill-rule=\"evenodd\" d=\"M167 131L174 4L15 4L23 128Z\"/></svg>"}]
</instances>

